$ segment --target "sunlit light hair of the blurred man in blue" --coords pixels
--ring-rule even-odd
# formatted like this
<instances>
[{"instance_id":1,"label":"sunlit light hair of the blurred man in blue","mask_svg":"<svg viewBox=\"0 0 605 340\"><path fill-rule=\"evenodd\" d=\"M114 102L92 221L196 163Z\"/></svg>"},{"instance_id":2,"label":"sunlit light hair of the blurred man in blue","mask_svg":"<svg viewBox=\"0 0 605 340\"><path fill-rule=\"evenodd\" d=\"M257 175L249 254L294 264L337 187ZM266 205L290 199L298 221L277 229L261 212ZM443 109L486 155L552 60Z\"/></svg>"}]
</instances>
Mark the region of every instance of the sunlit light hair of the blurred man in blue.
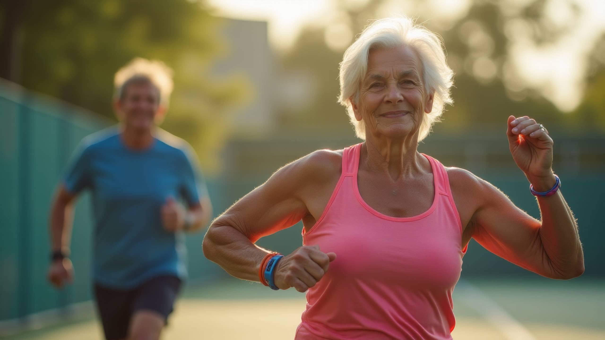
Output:
<instances>
[{"instance_id":1,"label":"sunlit light hair of the blurred man in blue","mask_svg":"<svg viewBox=\"0 0 605 340\"><path fill-rule=\"evenodd\" d=\"M114 97L123 99L126 88L134 82L149 82L154 85L159 92L160 104L168 106L174 83L172 82L172 69L166 64L160 60L148 60L140 57L132 59L128 65L116 72Z\"/></svg>"}]
</instances>

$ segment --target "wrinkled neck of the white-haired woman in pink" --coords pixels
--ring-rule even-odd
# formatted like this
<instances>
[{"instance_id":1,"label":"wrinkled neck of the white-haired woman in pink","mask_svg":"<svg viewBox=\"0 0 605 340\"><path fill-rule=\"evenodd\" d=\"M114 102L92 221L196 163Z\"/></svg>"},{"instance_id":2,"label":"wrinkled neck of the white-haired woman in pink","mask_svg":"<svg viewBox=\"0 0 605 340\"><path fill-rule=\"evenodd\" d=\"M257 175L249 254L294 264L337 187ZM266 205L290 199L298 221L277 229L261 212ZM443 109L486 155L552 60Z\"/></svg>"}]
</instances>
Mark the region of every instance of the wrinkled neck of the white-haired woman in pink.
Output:
<instances>
[{"instance_id":1,"label":"wrinkled neck of the white-haired woman in pink","mask_svg":"<svg viewBox=\"0 0 605 340\"><path fill-rule=\"evenodd\" d=\"M409 177L422 171L417 145L416 138L369 138L362 148L363 163L372 171L388 174L393 181Z\"/></svg>"}]
</instances>

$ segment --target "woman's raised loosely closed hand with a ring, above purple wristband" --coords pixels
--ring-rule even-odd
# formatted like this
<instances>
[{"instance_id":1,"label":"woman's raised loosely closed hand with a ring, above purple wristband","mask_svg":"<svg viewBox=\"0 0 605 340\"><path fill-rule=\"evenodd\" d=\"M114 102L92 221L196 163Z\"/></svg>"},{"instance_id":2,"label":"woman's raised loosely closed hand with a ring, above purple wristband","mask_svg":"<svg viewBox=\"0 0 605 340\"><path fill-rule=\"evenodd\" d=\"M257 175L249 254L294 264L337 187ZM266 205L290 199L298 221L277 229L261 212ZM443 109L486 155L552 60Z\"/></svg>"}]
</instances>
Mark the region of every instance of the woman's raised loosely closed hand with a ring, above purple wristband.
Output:
<instances>
[{"instance_id":1,"label":"woman's raised loosely closed hand with a ring, above purple wristband","mask_svg":"<svg viewBox=\"0 0 605 340\"><path fill-rule=\"evenodd\" d=\"M519 169L525 172L530 183L538 191L540 191L538 186L548 186L554 180L554 175L552 174L552 138L548 136L546 128L540 129L540 124L528 116L519 118L510 116L506 134L512 158Z\"/></svg>"}]
</instances>

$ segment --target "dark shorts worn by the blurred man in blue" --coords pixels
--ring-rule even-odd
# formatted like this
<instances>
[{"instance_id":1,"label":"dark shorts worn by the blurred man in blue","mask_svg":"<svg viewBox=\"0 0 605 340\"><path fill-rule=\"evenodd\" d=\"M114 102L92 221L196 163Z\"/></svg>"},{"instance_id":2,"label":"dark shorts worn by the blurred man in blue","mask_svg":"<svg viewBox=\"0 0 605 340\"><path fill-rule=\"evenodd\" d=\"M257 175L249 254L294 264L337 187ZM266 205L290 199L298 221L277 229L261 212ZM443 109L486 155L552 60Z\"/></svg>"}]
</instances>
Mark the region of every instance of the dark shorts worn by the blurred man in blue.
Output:
<instances>
[{"instance_id":1,"label":"dark shorts worn by the blurred man in blue","mask_svg":"<svg viewBox=\"0 0 605 340\"><path fill-rule=\"evenodd\" d=\"M130 319L137 310L154 310L167 321L180 286L181 280L172 275L151 278L132 290L116 290L95 284L94 295L105 338L126 338Z\"/></svg>"}]
</instances>

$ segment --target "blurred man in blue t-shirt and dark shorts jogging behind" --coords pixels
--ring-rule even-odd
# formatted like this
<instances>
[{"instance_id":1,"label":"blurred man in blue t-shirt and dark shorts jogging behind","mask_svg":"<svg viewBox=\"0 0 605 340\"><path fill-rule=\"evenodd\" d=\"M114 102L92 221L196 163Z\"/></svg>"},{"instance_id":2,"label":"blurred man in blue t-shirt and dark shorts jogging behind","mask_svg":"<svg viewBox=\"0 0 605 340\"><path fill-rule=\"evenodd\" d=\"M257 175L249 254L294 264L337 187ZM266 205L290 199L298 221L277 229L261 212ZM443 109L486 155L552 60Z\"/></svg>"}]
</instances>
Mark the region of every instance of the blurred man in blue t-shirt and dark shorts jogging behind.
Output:
<instances>
[{"instance_id":1,"label":"blurred man in blue t-shirt and dark shorts jogging behind","mask_svg":"<svg viewBox=\"0 0 605 340\"><path fill-rule=\"evenodd\" d=\"M183 232L212 216L191 147L157 128L171 73L145 59L116 73L120 124L83 140L52 203L48 280L60 288L73 278L73 202L85 189L93 196L94 295L106 339L159 338L187 275Z\"/></svg>"}]
</instances>

